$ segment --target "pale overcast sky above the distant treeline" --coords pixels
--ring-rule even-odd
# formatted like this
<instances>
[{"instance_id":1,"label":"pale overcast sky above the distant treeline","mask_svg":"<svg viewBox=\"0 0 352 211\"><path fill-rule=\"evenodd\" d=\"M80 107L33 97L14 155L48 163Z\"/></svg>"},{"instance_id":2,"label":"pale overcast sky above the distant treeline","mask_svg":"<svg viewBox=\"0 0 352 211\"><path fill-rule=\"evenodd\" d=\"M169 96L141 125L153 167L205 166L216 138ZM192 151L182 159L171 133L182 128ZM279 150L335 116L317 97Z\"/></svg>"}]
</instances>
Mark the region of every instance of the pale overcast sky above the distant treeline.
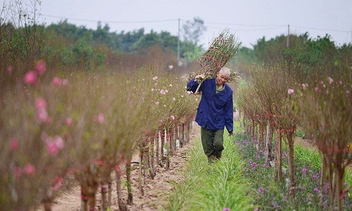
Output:
<instances>
[{"instance_id":1,"label":"pale overcast sky above the distant treeline","mask_svg":"<svg viewBox=\"0 0 352 211\"><path fill-rule=\"evenodd\" d=\"M7 0L0 0L7 1ZM303 34L311 38L330 34L341 46L352 41L352 0L42 0L47 24L68 23L96 29L100 20L110 32L167 31L177 36L180 25L199 17L207 30L201 44L229 28L243 46L251 47L263 36ZM181 34L182 37L182 34Z\"/></svg>"}]
</instances>

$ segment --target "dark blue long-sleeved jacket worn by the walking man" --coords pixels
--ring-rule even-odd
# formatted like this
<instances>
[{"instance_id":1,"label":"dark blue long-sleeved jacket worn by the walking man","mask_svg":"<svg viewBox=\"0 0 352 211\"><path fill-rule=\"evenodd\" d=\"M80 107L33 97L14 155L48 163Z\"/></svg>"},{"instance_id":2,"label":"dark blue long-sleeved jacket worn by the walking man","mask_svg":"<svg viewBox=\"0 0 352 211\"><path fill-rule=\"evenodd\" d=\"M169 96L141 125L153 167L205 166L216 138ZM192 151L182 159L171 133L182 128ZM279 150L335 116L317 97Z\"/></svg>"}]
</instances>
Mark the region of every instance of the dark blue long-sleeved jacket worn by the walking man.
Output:
<instances>
[{"instance_id":1,"label":"dark blue long-sleeved jacket worn by the walking man","mask_svg":"<svg viewBox=\"0 0 352 211\"><path fill-rule=\"evenodd\" d=\"M198 82L191 79L187 84L187 91L195 92ZM225 89L216 94L216 82L214 79L206 79L199 88L201 101L196 114L196 122L206 129L224 129L232 132L234 128L234 106L232 101L232 89L225 84Z\"/></svg>"}]
</instances>

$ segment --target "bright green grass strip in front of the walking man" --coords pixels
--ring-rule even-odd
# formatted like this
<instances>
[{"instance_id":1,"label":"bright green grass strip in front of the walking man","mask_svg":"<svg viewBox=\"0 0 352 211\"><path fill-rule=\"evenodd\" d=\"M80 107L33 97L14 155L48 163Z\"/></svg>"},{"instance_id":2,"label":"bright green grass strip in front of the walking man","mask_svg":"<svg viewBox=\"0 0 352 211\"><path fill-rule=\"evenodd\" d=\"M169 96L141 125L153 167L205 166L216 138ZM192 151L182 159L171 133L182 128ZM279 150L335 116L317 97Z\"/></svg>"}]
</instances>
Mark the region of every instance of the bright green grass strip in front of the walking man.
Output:
<instances>
[{"instance_id":1,"label":"bright green grass strip in front of the walking man","mask_svg":"<svg viewBox=\"0 0 352 211\"><path fill-rule=\"evenodd\" d=\"M227 136L225 134L225 136ZM166 210L253 210L253 190L241 174L243 162L232 143L225 138L225 150L218 162L208 163L201 141L195 140L194 150L184 171L185 181L175 184Z\"/></svg>"}]
</instances>

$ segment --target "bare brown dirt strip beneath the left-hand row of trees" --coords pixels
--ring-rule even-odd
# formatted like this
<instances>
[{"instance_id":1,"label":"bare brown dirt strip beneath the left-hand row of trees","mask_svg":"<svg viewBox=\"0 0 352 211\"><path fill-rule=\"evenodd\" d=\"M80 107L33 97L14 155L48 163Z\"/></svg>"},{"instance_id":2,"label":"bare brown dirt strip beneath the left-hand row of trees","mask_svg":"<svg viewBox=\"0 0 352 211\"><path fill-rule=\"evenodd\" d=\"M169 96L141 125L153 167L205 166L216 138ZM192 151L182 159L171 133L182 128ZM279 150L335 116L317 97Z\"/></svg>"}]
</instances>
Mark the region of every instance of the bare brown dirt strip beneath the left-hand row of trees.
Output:
<instances>
[{"instance_id":1,"label":"bare brown dirt strip beneath the left-hand row of trees","mask_svg":"<svg viewBox=\"0 0 352 211\"><path fill-rule=\"evenodd\" d=\"M172 192L172 183L180 183L182 181L182 168L184 163L187 162L187 151L192 148L191 141L194 141L196 136L199 136L199 126L193 124L190 133L190 143L187 143L183 148L177 149L174 156L170 160L170 170L165 171L165 167L156 167L155 179L146 179L144 184L144 196L138 190L138 166L133 166L132 170L132 191L133 191L133 205L128 205L129 210L164 210L163 205L168 203L168 196ZM137 159L137 158L136 158ZM134 160L132 160L134 161ZM138 161L138 160L135 160ZM125 177L122 178L125 181ZM122 184L122 198L127 201L127 187ZM96 210L99 210L101 205L101 194L97 194ZM68 211L80 210L80 187L77 186L64 196L57 198L54 202L54 211ZM116 184L113 181L113 196L111 210L118 210L118 199L116 193Z\"/></svg>"}]
</instances>

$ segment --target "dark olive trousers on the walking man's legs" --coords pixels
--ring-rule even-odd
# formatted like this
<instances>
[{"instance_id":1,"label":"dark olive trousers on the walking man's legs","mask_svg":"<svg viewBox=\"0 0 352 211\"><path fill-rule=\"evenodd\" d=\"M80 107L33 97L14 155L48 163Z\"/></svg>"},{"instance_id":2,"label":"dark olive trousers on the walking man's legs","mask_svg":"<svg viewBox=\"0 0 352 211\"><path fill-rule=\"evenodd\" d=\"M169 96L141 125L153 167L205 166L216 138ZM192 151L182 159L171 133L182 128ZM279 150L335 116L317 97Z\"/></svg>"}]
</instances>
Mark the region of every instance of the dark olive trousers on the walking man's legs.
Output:
<instances>
[{"instance_id":1,"label":"dark olive trousers on the walking man's legs","mask_svg":"<svg viewBox=\"0 0 352 211\"><path fill-rule=\"evenodd\" d=\"M202 127L201 143L208 159L220 159L222 150L224 149L224 130L212 130Z\"/></svg>"}]
</instances>

